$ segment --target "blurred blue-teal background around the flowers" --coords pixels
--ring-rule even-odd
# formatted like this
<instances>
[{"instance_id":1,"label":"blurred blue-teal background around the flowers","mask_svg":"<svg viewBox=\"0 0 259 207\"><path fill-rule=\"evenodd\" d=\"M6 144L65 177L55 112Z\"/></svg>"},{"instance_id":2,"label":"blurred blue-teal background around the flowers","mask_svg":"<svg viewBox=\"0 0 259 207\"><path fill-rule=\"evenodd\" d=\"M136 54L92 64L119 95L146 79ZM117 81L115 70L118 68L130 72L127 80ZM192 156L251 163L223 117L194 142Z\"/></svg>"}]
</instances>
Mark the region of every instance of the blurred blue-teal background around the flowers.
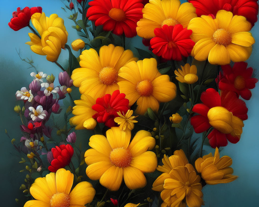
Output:
<instances>
[{"instance_id":1,"label":"blurred blue-teal background around the flowers","mask_svg":"<svg viewBox=\"0 0 259 207\"><path fill-rule=\"evenodd\" d=\"M181 1L185 2L185 1ZM34 54L28 45L24 43L30 41L28 32L31 32L28 27L19 31L13 31L9 28L8 22L12 17L12 12L17 7L24 8L25 6L41 6L42 11L46 16L52 13L57 13L59 17L65 21L65 26L69 33L68 44L70 45L74 39L77 39L77 33L71 28L73 21L67 19L71 14L70 11L64 12L61 7L64 4L59 0L12 0L1 1L1 50L0 50L0 96L1 96L1 124L0 124L0 166L1 166L1 206L17 206L15 198L18 197L20 190L19 187L24 183L25 173L19 173L22 169L22 165L19 164L20 156L14 150L10 139L5 135L4 130L7 129L11 138L15 138L19 141L21 137L21 131L19 129L20 119L18 115L13 112L13 108L16 105L15 92L20 90L21 87L28 87L32 77L30 73L34 70L27 69L29 65L20 60L15 48L21 49L21 56L23 58L32 57L34 65L38 66L39 71L44 73L53 73L56 77L60 68L54 63L46 61L46 56L40 56ZM253 45L253 53L249 58L248 66L253 67L255 70L259 67L258 49L259 49L259 23L256 23L251 30L256 43ZM133 40L127 40L128 43L134 43L135 45L142 45L141 38L135 37ZM73 51L76 56L79 53ZM63 64L68 59L68 52L62 50L58 62ZM257 74L255 76L259 78ZM218 207L218 206L257 206L259 203L259 127L258 127L258 115L259 115L259 86L251 90L252 98L246 101L248 107L248 120L244 121L243 134L240 141L237 144L229 143L221 151L221 156L228 155L233 159L232 168L234 169L234 175L238 175L239 178L232 183L218 184L214 186L206 185L203 188L204 202L206 207ZM213 150L210 147L204 147L207 152ZM256 205L257 204L257 205Z\"/></svg>"}]
</instances>

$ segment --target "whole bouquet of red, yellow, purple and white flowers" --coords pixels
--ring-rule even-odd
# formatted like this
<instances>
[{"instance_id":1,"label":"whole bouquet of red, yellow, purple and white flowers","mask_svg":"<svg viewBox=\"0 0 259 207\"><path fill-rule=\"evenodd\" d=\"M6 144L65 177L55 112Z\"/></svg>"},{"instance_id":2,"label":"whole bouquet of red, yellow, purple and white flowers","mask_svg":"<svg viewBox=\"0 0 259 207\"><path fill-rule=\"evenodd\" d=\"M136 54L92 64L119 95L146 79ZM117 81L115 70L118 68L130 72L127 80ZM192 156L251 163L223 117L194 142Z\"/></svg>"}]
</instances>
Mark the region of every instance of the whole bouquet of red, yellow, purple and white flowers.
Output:
<instances>
[{"instance_id":1,"label":"whole bouquet of red, yellow, purple and white flowers","mask_svg":"<svg viewBox=\"0 0 259 207\"><path fill-rule=\"evenodd\" d=\"M31 30L27 47L58 74L18 52L35 70L15 94L21 137L11 143L25 177L16 202L199 207L204 186L236 180L221 149L242 137L258 81L244 62L257 0L61 2L72 42L41 7L17 8L8 23Z\"/></svg>"}]
</instances>

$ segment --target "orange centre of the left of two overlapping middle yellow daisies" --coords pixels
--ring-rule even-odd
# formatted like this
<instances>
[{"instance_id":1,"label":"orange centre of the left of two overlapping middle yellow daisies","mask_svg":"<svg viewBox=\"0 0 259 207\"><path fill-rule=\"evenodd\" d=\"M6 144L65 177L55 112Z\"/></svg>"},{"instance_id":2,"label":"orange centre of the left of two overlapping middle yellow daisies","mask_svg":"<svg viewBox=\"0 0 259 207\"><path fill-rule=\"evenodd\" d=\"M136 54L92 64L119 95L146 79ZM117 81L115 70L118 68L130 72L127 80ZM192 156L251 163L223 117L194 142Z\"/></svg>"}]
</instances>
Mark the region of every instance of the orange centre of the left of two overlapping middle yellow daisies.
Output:
<instances>
[{"instance_id":1,"label":"orange centre of the left of two overlapping middle yellow daisies","mask_svg":"<svg viewBox=\"0 0 259 207\"><path fill-rule=\"evenodd\" d=\"M99 72L99 80L105 85L117 83L118 72L114 68L105 67Z\"/></svg>"}]
</instances>

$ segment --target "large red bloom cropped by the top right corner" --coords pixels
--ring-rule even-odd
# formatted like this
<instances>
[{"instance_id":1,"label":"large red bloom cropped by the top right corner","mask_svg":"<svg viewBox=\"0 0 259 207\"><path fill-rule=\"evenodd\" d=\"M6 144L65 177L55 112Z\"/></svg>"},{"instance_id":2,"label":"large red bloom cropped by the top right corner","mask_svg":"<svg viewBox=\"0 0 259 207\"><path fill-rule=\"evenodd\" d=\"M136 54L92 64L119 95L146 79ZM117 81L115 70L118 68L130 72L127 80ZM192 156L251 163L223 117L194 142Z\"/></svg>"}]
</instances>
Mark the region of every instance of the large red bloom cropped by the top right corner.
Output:
<instances>
[{"instance_id":1,"label":"large red bloom cropped by the top right corner","mask_svg":"<svg viewBox=\"0 0 259 207\"><path fill-rule=\"evenodd\" d=\"M221 9L231 11L233 15L247 18L252 26L257 21L258 0L189 0L196 8L197 16L213 14L216 16Z\"/></svg>"}]
</instances>

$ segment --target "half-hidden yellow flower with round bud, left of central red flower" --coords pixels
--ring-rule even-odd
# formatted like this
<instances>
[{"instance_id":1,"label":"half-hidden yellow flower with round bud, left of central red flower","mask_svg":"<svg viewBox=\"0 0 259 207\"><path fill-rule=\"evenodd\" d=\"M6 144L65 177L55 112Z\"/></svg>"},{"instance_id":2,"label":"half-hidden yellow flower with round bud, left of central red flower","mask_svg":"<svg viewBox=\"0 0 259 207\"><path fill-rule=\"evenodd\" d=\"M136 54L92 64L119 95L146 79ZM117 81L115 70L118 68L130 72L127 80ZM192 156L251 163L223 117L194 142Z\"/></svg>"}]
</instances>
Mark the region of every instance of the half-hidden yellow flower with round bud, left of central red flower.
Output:
<instances>
[{"instance_id":1,"label":"half-hidden yellow flower with round bud, left of central red flower","mask_svg":"<svg viewBox=\"0 0 259 207\"><path fill-rule=\"evenodd\" d=\"M72 113L75 115L70 118L70 125L76 126L75 129L94 129L97 121L92 118L96 111L92 106L96 104L96 99L90 95L82 94L80 100L75 100Z\"/></svg>"}]
</instances>

